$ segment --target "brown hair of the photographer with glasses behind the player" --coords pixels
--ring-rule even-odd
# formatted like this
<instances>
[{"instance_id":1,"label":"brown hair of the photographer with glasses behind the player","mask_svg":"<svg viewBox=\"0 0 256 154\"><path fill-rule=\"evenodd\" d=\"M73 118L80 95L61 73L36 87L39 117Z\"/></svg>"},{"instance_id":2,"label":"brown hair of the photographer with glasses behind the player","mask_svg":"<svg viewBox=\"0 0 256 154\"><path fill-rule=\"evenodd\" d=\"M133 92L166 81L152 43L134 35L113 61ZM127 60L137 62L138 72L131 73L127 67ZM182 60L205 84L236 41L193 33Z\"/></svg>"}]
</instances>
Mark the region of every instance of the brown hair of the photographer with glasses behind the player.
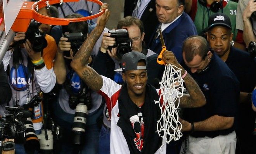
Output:
<instances>
[{"instance_id":1,"label":"brown hair of the photographer with glasses behind the player","mask_svg":"<svg viewBox=\"0 0 256 154\"><path fill-rule=\"evenodd\" d=\"M136 26L139 27L140 34L142 35L142 33L144 32L143 22L140 19L136 18L136 17L127 16L127 17L121 19L118 22L117 28L122 29L122 27L129 27L129 26L133 26L133 25L136 25Z\"/></svg>"}]
</instances>

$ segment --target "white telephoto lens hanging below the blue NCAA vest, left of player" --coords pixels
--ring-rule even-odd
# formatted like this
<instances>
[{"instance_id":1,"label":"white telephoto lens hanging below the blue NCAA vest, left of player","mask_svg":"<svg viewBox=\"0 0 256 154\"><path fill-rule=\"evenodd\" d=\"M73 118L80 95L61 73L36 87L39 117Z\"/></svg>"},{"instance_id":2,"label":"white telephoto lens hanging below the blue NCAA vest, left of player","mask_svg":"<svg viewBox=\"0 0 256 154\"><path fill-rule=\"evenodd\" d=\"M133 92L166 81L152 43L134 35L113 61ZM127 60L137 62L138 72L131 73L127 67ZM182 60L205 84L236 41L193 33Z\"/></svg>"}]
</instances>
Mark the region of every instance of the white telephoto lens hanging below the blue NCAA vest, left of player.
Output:
<instances>
[{"instance_id":1,"label":"white telephoto lens hanging below the blue NCAA vest, left of player","mask_svg":"<svg viewBox=\"0 0 256 154\"><path fill-rule=\"evenodd\" d=\"M73 144L82 145L85 135L86 118L88 116L87 106L85 104L77 104L74 114L74 122L72 127Z\"/></svg>"}]
</instances>

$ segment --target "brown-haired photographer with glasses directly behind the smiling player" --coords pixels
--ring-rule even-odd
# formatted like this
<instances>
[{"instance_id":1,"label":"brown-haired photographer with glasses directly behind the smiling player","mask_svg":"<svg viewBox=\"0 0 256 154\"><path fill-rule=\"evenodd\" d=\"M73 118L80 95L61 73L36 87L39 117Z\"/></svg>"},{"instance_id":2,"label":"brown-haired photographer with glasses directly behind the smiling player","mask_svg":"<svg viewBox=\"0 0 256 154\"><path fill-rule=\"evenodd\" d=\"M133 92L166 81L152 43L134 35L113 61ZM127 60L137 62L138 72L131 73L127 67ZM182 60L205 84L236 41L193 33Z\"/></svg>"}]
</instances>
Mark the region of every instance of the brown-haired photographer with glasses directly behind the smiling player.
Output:
<instances>
[{"instance_id":1,"label":"brown-haired photographer with glasses directly behind the smiling player","mask_svg":"<svg viewBox=\"0 0 256 154\"><path fill-rule=\"evenodd\" d=\"M154 79L161 80L163 76L163 69L162 66L156 62L158 55L154 53L152 50L147 49L147 46L143 41L145 33L142 21L140 21L140 19L136 17L127 16L118 22L117 28L127 29L129 38L132 40L132 51L138 51L146 55L148 61L148 82L150 84L155 84ZM109 36L110 33L103 33L100 51L103 53L108 53L111 57L113 57L112 60L114 60L114 62L117 64L114 69L116 69L117 67L120 68L120 59L116 56L116 48L112 48L111 51L108 50L108 46L114 46L114 44L116 43L115 38L111 38ZM114 69L112 69L113 72ZM121 74L119 75L121 77Z\"/></svg>"}]
</instances>

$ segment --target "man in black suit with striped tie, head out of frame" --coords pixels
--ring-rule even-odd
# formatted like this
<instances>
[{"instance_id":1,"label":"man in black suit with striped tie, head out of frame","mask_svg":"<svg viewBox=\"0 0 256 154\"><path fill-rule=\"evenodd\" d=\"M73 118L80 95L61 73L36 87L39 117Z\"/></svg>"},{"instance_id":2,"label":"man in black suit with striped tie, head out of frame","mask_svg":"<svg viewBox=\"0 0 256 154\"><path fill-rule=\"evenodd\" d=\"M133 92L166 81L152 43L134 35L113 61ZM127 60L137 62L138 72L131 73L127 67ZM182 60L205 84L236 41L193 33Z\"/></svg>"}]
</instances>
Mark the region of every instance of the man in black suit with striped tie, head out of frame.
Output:
<instances>
[{"instance_id":1,"label":"man in black suit with striped tie, head out of frame","mask_svg":"<svg viewBox=\"0 0 256 154\"><path fill-rule=\"evenodd\" d=\"M140 1L137 14L133 14L136 5ZM156 29L159 24L156 17L156 0L126 0L124 15L134 16L140 19L144 24L144 41L149 46L149 41L152 36L152 32Z\"/></svg>"}]
</instances>

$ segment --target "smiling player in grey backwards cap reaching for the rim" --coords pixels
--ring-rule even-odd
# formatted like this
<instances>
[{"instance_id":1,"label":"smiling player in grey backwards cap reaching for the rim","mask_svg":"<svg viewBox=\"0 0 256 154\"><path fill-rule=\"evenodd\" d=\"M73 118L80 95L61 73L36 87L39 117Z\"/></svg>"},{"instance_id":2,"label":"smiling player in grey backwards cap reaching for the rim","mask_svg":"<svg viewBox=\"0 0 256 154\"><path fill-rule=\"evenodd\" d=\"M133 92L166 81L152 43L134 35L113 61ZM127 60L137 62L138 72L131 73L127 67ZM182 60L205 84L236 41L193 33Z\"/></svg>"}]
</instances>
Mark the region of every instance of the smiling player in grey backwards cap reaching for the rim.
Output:
<instances>
[{"instance_id":1,"label":"smiling player in grey backwards cap reaching for the rim","mask_svg":"<svg viewBox=\"0 0 256 154\"><path fill-rule=\"evenodd\" d=\"M106 12L107 10L105 14ZM97 27L74 56L71 67L88 87L106 99L111 118L111 154L165 154L166 146L163 151L159 151L162 138L156 132L161 110L154 100L159 100L160 91L147 84L147 57L137 51L122 56L120 70L123 71L125 80L123 86L100 76L86 64L108 16L103 15L100 18L100 23L97 23ZM164 52L163 60L166 64L172 63L182 68L170 51ZM180 106L192 108L204 105L204 95L194 79L183 68L181 74L189 94L183 94ZM186 126L189 127L191 128Z\"/></svg>"}]
</instances>

